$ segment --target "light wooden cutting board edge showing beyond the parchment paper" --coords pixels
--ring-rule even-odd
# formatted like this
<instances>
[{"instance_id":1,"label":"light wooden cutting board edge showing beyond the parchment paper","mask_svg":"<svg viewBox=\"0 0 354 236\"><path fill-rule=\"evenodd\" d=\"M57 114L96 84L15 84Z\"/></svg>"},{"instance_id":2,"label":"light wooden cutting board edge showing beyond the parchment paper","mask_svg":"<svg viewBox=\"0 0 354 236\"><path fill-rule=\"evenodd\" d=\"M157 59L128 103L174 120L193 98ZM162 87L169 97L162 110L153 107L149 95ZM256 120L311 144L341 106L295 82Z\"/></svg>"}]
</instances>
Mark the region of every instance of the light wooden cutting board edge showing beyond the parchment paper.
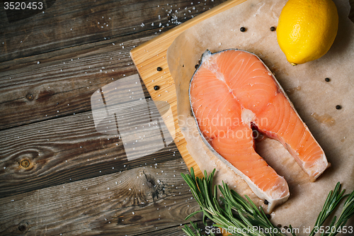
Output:
<instances>
[{"instance_id":1,"label":"light wooden cutting board edge showing beyond the parchment paper","mask_svg":"<svg viewBox=\"0 0 354 236\"><path fill-rule=\"evenodd\" d=\"M150 96L152 96L152 99L154 99L154 101L167 101L169 103L173 118L169 116L162 116L162 118L164 119L167 128L169 128L169 132L171 133L188 169L193 167L197 176L202 176L202 172L200 171L198 164L195 163L193 157L188 153L188 150L185 147L185 139L178 126L176 89L167 64L167 49L173 43L173 40L183 33L184 30L195 26L195 24L200 23L207 18L215 16L217 13L221 13L233 6L241 4L244 1L246 0L226 1L130 51L130 57L132 57L140 77L147 87ZM158 71L157 67L161 67L162 70ZM159 90L154 90L155 85L159 86ZM162 114L164 108L159 108L159 106L157 106L157 108Z\"/></svg>"}]
</instances>

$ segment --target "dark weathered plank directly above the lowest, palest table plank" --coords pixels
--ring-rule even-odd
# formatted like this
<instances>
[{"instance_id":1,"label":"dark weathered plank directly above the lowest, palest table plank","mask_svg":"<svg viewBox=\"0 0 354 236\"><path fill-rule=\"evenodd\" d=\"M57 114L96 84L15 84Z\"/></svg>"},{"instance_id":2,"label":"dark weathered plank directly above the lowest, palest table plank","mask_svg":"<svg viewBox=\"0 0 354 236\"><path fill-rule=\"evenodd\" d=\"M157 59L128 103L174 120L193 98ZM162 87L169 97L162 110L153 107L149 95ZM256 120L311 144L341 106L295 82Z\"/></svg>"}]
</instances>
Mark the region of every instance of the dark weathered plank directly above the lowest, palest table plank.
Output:
<instances>
[{"instance_id":1,"label":"dark weathered plank directly above the lowest, palest table plank","mask_svg":"<svg viewBox=\"0 0 354 236\"><path fill-rule=\"evenodd\" d=\"M141 103L123 103L122 108L131 111L119 118L127 124L118 127L120 133L136 133L134 128L145 126L139 129L144 137L136 137L139 143L135 145L134 140L130 146L123 144L118 132L98 133L91 111L0 131L0 197L180 157L172 138L166 140L164 123L157 123L161 116L156 107L150 103L146 116ZM102 125L108 126L109 121ZM128 161L127 151L147 156Z\"/></svg>"}]
</instances>

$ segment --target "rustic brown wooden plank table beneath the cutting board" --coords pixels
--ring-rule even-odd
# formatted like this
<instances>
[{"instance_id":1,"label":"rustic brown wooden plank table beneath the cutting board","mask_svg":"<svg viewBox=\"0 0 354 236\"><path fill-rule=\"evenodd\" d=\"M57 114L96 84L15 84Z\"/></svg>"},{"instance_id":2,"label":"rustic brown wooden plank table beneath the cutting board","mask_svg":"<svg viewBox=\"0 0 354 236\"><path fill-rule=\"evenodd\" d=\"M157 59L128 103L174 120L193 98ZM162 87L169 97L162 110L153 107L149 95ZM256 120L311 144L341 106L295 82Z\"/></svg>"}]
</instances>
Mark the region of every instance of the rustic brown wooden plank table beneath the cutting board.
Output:
<instances>
[{"instance_id":1,"label":"rustic brown wooden plank table beneath the cutting board","mask_svg":"<svg viewBox=\"0 0 354 236\"><path fill-rule=\"evenodd\" d=\"M183 235L198 205L176 145L128 161L91 96L137 74L133 47L223 1L0 4L0 235Z\"/></svg>"}]
</instances>

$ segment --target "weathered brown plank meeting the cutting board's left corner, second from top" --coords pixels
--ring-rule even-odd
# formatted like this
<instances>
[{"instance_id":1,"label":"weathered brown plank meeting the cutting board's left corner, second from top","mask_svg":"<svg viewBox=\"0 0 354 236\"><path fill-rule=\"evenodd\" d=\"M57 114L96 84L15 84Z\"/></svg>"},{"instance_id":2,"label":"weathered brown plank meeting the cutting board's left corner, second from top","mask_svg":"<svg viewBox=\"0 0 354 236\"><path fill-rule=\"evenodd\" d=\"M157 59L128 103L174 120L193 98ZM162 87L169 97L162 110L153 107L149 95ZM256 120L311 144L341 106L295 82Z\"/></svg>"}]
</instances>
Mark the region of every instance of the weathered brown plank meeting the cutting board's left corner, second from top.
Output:
<instances>
[{"instance_id":1,"label":"weathered brown plank meeting the cutting board's left corner, second from top","mask_svg":"<svg viewBox=\"0 0 354 236\"><path fill-rule=\"evenodd\" d=\"M137 74L129 51L148 39L127 39L124 48L108 40L1 63L0 130L90 111L94 91Z\"/></svg>"}]
</instances>

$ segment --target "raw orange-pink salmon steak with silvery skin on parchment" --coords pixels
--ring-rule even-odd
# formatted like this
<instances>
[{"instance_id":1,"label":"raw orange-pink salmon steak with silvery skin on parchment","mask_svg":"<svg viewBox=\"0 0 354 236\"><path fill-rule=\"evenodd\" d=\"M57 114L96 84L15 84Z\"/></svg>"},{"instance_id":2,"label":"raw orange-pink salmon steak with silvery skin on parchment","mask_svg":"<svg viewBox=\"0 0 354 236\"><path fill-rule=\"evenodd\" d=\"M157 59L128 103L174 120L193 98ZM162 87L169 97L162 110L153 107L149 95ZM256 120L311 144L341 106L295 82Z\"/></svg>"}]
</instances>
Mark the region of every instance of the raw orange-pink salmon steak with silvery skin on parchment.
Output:
<instances>
[{"instance_id":1,"label":"raw orange-pink salmon steak with silvery skin on parchment","mask_svg":"<svg viewBox=\"0 0 354 236\"><path fill-rule=\"evenodd\" d=\"M202 140L268 201L268 212L287 201L289 187L255 151L253 126L280 141L313 181L329 167L273 73L253 53L205 51L190 79L189 96Z\"/></svg>"}]
</instances>

